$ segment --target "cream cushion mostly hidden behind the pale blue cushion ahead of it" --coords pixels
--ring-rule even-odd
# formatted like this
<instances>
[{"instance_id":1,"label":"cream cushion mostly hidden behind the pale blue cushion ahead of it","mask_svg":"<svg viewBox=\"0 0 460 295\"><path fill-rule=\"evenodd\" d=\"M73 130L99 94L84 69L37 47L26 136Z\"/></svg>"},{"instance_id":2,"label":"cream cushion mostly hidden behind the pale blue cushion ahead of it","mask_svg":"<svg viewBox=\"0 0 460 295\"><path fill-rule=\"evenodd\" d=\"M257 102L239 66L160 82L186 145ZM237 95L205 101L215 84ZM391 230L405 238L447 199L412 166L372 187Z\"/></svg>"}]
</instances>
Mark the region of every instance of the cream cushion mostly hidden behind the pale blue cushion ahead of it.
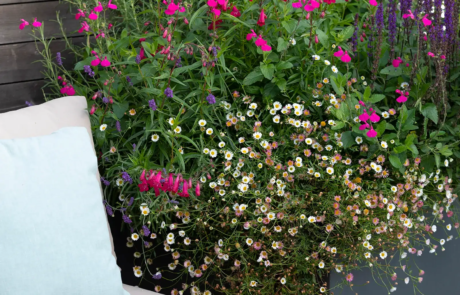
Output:
<instances>
[{"instance_id":1,"label":"cream cushion mostly hidden behind the pale blue cushion ahead of it","mask_svg":"<svg viewBox=\"0 0 460 295\"><path fill-rule=\"evenodd\" d=\"M48 135L63 127L85 127L94 148L87 107L86 99L83 96L67 96L41 105L0 114L0 139ZM99 176L98 181L100 185ZM102 201L102 188L101 194L95 197L101 198ZM112 255L116 258L108 222L107 230L112 244ZM161 295L128 285L123 285L123 288L131 295Z\"/></svg>"}]
</instances>

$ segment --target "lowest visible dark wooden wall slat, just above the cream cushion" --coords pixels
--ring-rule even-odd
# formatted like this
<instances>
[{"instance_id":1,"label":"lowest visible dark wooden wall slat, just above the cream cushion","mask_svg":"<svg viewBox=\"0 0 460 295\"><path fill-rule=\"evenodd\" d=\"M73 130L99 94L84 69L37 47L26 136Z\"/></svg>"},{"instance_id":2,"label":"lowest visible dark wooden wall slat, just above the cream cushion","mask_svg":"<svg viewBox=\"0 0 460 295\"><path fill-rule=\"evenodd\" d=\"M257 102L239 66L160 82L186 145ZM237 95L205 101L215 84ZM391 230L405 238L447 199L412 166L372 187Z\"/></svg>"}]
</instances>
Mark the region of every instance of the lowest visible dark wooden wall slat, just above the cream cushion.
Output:
<instances>
[{"instance_id":1,"label":"lowest visible dark wooden wall slat, just above the cream cushion","mask_svg":"<svg viewBox=\"0 0 460 295\"><path fill-rule=\"evenodd\" d=\"M26 101L41 104L44 80L0 85L0 113L23 108Z\"/></svg>"}]
</instances>

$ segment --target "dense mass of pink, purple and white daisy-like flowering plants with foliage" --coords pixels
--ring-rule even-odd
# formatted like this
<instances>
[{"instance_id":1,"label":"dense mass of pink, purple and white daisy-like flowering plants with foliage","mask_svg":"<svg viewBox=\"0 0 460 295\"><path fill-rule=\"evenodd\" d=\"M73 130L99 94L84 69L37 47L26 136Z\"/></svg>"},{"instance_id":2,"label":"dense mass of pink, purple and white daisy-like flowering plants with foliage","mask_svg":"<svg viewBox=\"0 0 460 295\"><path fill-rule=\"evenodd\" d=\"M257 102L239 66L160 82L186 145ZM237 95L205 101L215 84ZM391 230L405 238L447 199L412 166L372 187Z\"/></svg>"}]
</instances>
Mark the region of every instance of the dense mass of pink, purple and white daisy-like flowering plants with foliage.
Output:
<instances>
[{"instance_id":1,"label":"dense mass of pink, purple and white daisy-like flowering plants with foliage","mask_svg":"<svg viewBox=\"0 0 460 295\"><path fill-rule=\"evenodd\" d=\"M68 2L75 63L40 20L20 29L44 44L47 98L88 99L139 282L326 294L368 268L418 292L406 260L459 227L458 2Z\"/></svg>"}]
</instances>

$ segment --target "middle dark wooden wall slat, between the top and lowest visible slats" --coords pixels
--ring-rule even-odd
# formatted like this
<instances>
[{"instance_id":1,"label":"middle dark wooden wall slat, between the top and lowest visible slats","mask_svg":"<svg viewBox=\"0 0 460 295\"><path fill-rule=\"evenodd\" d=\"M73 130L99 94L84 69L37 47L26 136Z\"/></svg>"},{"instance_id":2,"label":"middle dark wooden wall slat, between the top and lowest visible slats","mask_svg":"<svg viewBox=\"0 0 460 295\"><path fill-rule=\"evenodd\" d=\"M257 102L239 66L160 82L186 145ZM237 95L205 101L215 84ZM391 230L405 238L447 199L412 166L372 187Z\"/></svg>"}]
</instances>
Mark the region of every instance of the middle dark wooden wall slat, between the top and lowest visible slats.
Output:
<instances>
[{"instance_id":1,"label":"middle dark wooden wall slat, between the top and lowest visible slats","mask_svg":"<svg viewBox=\"0 0 460 295\"><path fill-rule=\"evenodd\" d=\"M81 44L86 38L70 38L73 44ZM74 57L66 52L65 40L54 40L51 42L50 50L53 56L61 52L64 67L73 68ZM38 44L38 49L43 46ZM20 81L30 81L44 78L41 74L42 64L36 62L41 59L35 42L0 45L0 84L7 84Z\"/></svg>"}]
</instances>

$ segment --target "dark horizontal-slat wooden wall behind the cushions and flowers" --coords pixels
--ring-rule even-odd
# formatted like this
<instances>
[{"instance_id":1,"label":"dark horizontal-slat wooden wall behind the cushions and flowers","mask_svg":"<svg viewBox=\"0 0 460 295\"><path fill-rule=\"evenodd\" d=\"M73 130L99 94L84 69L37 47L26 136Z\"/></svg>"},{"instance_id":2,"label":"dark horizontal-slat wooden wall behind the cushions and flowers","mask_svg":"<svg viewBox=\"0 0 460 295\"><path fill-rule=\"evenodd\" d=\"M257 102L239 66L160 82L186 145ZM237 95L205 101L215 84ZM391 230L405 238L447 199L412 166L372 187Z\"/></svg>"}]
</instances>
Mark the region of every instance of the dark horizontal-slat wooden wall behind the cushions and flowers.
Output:
<instances>
[{"instance_id":1,"label":"dark horizontal-slat wooden wall behind the cushions and flowers","mask_svg":"<svg viewBox=\"0 0 460 295\"><path fill-rule=\"evenodd\" d=\"M0 0L0 110L2 112L21 108L25 101L40 104L44 101L42 87L45 85L38 50L30 27L19 30L21 19L32 24L33 19L42 22L46 38L56 38L51 51L62 52L64 62L73 64L73 57L65 54L65 42L56 20L60 12L63 25L72 43L83 41L76 31L80 27L71 8L58 0Z\"/></svg>"}]
</instances>

